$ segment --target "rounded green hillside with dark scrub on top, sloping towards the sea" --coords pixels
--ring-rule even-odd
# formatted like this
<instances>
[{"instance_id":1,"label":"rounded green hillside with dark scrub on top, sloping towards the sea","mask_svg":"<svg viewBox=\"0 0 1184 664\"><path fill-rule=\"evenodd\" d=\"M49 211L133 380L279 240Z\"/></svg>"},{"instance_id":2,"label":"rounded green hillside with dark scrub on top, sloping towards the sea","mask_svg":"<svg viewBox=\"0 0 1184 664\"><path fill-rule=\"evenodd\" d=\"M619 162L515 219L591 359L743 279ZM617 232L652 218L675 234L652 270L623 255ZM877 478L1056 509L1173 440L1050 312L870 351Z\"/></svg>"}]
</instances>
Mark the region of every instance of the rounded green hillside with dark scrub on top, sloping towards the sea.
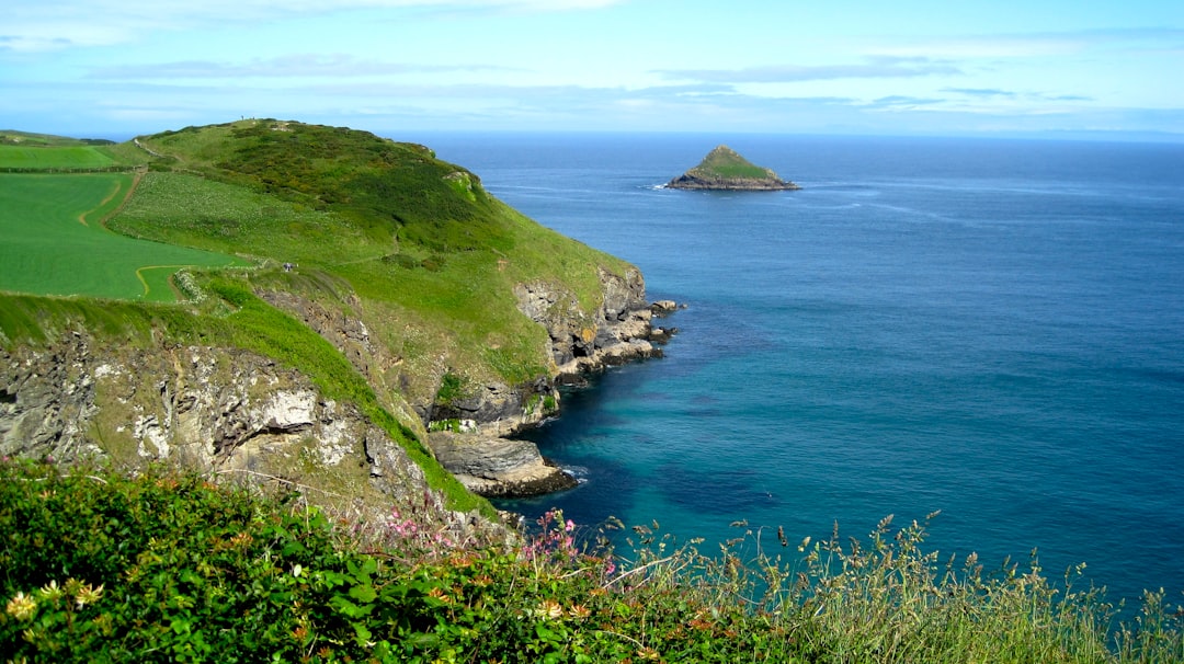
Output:
<instances>
[{"instance_id":1,"label":"rounded green hillside with dark scrub on top, sloping towards the sea","mask_svg":"<svg viewBox=\"0 0 1184 664\"><path fill-rule=\"evenodd\" d=\"M561 284L591 311L601 297L598 269L628 267L526 219L423 146L279 121L140 142L165 157L114 230L345 282L371 329L412 322L412 335L387 339L397 354L413 361L425 346L443 349L475 380L519 382L547 370L546 333L517 311L515 284ZM253 278L320 299L340 295L297 284L295 273Z\"/></svg>"}]
</instances>

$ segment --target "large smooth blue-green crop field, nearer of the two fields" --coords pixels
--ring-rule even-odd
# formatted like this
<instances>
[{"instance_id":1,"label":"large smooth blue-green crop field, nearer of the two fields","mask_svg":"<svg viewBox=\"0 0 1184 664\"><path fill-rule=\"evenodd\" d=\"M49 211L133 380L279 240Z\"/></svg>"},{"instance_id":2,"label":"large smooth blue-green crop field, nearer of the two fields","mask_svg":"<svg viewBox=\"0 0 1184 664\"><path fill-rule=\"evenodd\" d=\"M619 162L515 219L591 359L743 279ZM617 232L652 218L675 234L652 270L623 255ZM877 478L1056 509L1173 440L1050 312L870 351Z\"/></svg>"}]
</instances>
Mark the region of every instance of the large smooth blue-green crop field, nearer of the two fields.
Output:
<instances>
[{"instance_id":1,"label":"large smooth blue-green crop field, nearer of the two fields","mask_svg":"<svg viewBox=\"0 0 1184 664\"><path fill-rule=\"evenodd\" d=\"M169 302L180 267L246 265L108 231L101 221L133 181L123 173L0 175L0 290Z\"/></svg>"}]
</instances>

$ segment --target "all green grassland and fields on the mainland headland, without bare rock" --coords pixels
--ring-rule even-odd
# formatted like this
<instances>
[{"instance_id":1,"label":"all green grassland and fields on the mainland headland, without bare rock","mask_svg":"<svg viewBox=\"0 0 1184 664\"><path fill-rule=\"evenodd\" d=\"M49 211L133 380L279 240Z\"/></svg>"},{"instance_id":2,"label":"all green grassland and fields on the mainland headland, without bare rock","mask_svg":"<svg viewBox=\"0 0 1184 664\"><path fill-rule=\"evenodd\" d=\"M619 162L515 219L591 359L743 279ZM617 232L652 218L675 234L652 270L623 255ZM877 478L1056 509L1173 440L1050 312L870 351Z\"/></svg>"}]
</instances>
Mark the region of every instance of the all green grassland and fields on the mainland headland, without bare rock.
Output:
<instances>
[{"instance_id":1,"label":"all green grassland and fields on the mainland headland, without bare rock","mask_svg":"<svg viewBox=\"0 0 1184 664\"><path fill-rule=\"evenodd\" d=\"M0 146L6 166L4 348L82 329L129 353L259 353L356 405L464 511L490 509L426 452L411 404L431 404L445 375L461 394L548 375L549 339L514 286L553 284L591 312L600 270L628 267L526 219L425 147L342 128L245 121L121 144L21 135ZM251 267L217 269L226 264ZM347 359L302 307L356 321L371 349Z\"/></svg>"}]
</instances>

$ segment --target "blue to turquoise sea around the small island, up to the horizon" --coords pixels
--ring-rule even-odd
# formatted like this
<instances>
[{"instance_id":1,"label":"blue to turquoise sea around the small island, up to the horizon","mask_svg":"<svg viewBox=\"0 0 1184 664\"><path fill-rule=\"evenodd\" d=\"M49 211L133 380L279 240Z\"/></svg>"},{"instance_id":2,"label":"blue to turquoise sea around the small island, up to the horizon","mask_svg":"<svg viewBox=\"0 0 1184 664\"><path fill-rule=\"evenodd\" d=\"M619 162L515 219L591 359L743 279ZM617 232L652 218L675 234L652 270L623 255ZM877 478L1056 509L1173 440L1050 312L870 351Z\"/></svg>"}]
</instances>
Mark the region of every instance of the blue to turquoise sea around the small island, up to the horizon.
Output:
<instances>
[{"instance_id":1,"label":"blue to turquoise sea around the small island, up to the horizon","mask_svg":"<svg viewBox=\"0 0 1184 664\"><path fill-rule=\"evenodd\" d=\"M1086 562L1184 595L1184 146L972 138L429 135L529 217L688 304L667 356L532 434L579 523L863 536ZM804 188L656 187L725 142ZM772 542L773 537L767 537Z\"/></svg>"}]
</instances>

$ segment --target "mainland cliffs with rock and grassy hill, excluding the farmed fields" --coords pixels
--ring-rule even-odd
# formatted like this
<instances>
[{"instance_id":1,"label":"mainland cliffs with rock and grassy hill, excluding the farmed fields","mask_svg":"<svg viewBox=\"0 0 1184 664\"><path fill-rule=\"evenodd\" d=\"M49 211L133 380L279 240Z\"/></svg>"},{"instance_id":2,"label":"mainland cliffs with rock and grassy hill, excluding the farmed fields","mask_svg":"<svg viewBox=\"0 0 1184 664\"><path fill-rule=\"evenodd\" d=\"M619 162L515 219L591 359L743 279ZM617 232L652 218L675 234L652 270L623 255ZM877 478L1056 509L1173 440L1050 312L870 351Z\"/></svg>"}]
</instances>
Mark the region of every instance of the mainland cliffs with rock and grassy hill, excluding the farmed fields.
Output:
<instances>
[{"instance_id":1,"label":"mainland cliffs with rock and grassy hill, excluding the farmed fields","mask_svg":"<svg viewBox=\"0 0 1184 664\"><path fill-rule=\"evenodd\" d=\"M184 270L166 304L0 292L6 456L180 464L372 515L429 496L471 528L494 510L470 491L570 485L511 439L556 385L668 337L635 266L423 146L244 121L102 149L139 168L104 225L252 266Z\"/></svg>"}]
</instances>

